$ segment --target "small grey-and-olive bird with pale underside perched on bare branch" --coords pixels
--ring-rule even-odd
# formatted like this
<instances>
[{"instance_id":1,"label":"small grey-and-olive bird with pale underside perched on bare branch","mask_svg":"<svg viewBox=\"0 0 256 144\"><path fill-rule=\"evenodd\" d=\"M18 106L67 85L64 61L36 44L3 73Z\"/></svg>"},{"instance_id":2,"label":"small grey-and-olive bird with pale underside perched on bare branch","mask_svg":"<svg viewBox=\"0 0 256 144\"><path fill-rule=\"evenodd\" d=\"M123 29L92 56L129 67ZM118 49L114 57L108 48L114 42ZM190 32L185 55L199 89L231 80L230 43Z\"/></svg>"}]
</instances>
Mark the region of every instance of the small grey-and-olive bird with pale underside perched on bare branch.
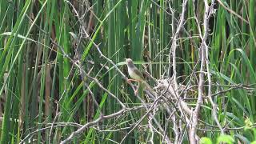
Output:
<instances>
[{"instance_id":1,"label":"small grey-and-olive bird with pale underside perched on bare branch","mask_svg":"<svg viewBox=\"0 0 256 144\"><path fill-rule=\"evenodd\" d=\"M130 75L130 78L128 81L135 81L139 84L142 83L143 86L145 86L146 90L150 91L151 94L156 94L154 90L151 88L151 86L146 82L145 78L143 77L142 73L138 70L138 68L134 65L134 62L130 58L126 58L126 65L128 68L128 74ZM135 94L137 94L138 89L134 91ZM155 95L156 96L156 95Z\"/></svg>"}]
</instances>

